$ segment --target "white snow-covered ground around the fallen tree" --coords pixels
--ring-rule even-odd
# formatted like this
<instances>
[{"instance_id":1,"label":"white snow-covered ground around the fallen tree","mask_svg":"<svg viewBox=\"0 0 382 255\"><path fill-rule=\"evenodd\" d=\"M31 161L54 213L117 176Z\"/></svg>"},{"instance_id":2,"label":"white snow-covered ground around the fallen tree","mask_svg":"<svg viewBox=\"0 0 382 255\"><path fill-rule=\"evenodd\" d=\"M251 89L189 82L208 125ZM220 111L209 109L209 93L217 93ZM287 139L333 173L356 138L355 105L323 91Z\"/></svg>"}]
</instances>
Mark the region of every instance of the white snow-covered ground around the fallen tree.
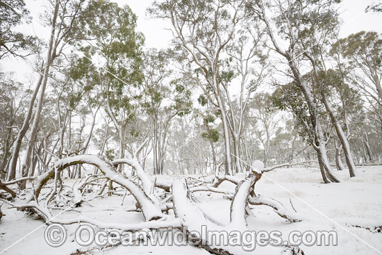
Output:
<instances>
[{"instance_id":1,"label":"white snow-covered ground around the fallen tree","mask_svg":"<svg viewBox=\"0 0 382 255\"><path fill-rule=\"evenodd\" d=\"M291 231L301 231L301 233L304 231L337 232L337 246L301 245L300 247L306 255L382 254L382 233L377 233L378 231L372 233L372 231L365 229L365 227L380 227L381 230L382 166L358 167L358 171L359 176L354 178L349 178L349 172L338 171L336 173L343 182L331 184L322 183L321 174L316 169L289 168L266 173L256 183L256 194L266 195L281 201L290 210L292 210L293 205L297 213L308 220L288 223L276 215L272 208L252 206L251 211L254 215L247 217L248 228L254 231L281 231L283 239L287 239ZM166 178L171 177L167 176ZM73 183L73 180L65 180L64 182L70 184ZM231 183L223 183L221 187L231 190L235 188ZM229 222L230 201L224 199L223 195L198 192L195 199L199 201L200 208L206 215L210 215L222 223ZM103 222L133 223L144 221L141 213L126 211L126 208L134 208L131 196L124 200L123 206L121 203L122 196L100 197L92 200L90 204L83 203L81 207L76 208L76 211ZM44 240L44 229L47 228L47 225L43 224L42 220L27 216L25 212L17 211L15 208L9 208L6 204L3 204L1 209L4 216L0 221L0 254L59 255L72 254L77 249L85 251L97 247L95 245L82 247L76 243L74 233L78 224L65 226L67 229L66 242L60 247L51 247ZM61 216L74 217L75 213L75 211L65 212ZM169 213L173 212L170 210ZM351 225L364 228L352 227ZM24 236L26 237L24 238ZM381 252L377 252L369 245ZM2 252L4 249L6 251ZM209 253L204 249L190 245L183 247L176 245L156 245L155 247L136 245L133 247L118 246L109 249L96 249L93 254ZM254 254L256 254L256 249Z\"/></svg>"}]
</instances>

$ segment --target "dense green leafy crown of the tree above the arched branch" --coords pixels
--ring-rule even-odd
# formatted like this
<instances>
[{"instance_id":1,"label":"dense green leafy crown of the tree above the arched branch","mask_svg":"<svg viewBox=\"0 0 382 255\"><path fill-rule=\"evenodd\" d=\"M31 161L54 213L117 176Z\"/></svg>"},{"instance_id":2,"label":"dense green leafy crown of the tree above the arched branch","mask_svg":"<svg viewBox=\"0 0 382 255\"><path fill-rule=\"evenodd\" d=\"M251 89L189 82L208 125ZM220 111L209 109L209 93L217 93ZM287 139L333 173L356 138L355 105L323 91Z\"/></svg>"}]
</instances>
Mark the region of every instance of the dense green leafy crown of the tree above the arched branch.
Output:
<instances>
[{"instance_id":1,"label":"dense green leafy crown of the tree above the arched branch","mask_svg":"<svg viewBox=\"0 0 382 255\"><path fill-rule=\"evenodd\" d=\"M86 38L91 44L76 41L74 45L86 57L78 58L72 69L73 79L92 79L83 86L84 91L101 84L103 97L115 116L127 115L132 119L140 99L142 85L142 46L144 37L137 32L137 17L128 6L119 7L108 0L90 1L83 17L76 20L73 36ZM95 67L89 58L101 56L105 64ZM127 114L126 114L127 113Z\"/></svg>"}]
</instances>

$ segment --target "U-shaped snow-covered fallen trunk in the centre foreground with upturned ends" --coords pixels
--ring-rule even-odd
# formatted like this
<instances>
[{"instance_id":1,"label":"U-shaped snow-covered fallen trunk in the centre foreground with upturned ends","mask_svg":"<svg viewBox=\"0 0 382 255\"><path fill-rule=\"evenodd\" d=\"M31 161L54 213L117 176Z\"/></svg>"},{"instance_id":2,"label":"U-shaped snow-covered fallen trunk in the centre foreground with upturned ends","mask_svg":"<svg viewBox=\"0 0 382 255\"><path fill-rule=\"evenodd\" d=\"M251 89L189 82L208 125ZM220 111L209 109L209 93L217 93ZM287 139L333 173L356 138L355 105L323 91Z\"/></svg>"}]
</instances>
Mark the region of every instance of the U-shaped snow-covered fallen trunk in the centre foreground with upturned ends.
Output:
<instances>
[{"instance_id":1,"label":"U-shaped snow-covered fallen trunk in the centre foreground with upturned ends","mask_svg":"<svg viewBox=\"0 0 382 255\"><path fill-rule=\"evenodd\" d=\"M229 245L229 243L221 243L217 239L212 238L213 233L226 233L228 236L231 233L244 233L247 229L245 220L245 208L247 206L248 197L251 189L254 187L256 176L250 174L247 179L239 183L235 189L235 195L231 202L231 217L230 223L226 226L218 224L217 220L211 220L205 215L192 201L190 190L185 179L176 180L172 186L172 196L174 201L174 213L182 226L186 229L188 238L192 238L192 245L206 249L211 254L229 255L229 254L281 254L282 252L290 251L290 254L304 254L297 247L256 247L256 252L253 249L245 249L243 245ZM206 236L203 236L204 229ZM197 235L196 233L201 233ZM211 236L210 236L211 233ZM253 232L254 233L254 232ZM242 236L241 236L242 237ZM254 240L256 242L256 240ZM256 246L256 245L255 245ZM250 248L250 247L249 247ZM292 253L292 250L294 253ZM286 254L286 253L285 253Z\"/></svg>"}]
</instances>

